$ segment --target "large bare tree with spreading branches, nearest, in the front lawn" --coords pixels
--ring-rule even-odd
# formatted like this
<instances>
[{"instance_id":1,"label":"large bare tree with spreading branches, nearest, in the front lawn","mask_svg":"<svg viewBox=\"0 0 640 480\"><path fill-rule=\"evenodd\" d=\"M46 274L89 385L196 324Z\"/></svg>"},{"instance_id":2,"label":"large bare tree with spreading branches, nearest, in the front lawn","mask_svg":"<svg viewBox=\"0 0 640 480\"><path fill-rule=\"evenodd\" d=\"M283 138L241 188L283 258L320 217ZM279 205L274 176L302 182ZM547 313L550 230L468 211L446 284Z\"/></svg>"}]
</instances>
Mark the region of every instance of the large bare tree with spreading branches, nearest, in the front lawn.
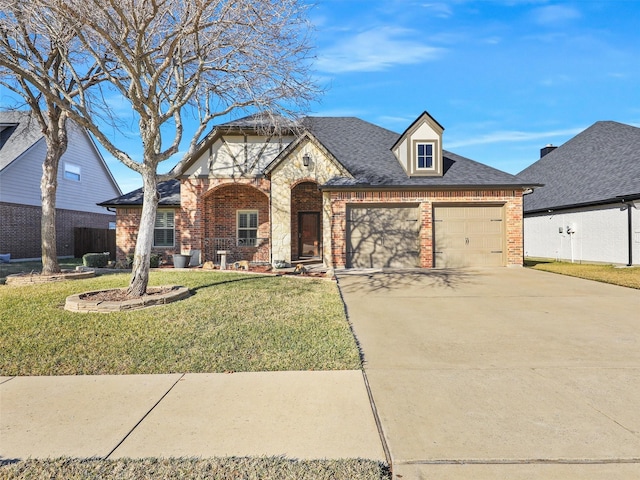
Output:
<instances>
[{"instance_id":1,"label":"large bare tree with spreading branches, nearest, in the front lawn","mask_svg":"<svg viewBox=\"0 0 640 480\"><path fill-rule=\"evenodd\" d=\"M82 93L52 99L118 160L142 176L144 201L129 296L146 292L158 206L157 185L183 173L217 117L248 109L292 115L317 90L309 78L310 45L301 0L34 0L71 28L106 72L104 101ZM71 55L66 59L74 64ZM40 79L29 78L37 84ZM105 88L105 87L103 87ZM109 95L125 100L137 121L142 159L117 146L104 126ZM102 118L102 121L97 119ZM187 121L190 118L190 122ZM185 126L193 124L186 139ZM160 162L186 148L176 167Z\"/></svg>"}]
</instances>

